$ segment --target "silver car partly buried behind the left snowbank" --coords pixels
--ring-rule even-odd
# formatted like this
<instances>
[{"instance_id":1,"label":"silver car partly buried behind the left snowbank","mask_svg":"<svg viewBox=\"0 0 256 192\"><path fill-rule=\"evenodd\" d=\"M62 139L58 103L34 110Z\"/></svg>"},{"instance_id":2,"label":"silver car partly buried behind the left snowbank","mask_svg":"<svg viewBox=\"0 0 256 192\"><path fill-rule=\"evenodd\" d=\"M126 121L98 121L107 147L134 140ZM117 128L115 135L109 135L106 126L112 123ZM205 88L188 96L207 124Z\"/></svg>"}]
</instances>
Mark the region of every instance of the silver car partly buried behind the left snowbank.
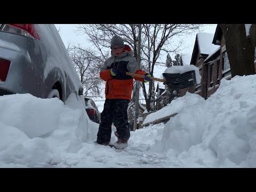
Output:
<instances>
[{"instance_id":1,"label":"silver car partly buried behind the left snowbank","mask_svg":"<svg viewBox=\"0 0 256 192\"><path fill-rule=\"evenodd\" d=\"M71 93L83 85L53 24L0 24L0 95L30 93L38 98Z\"/></svg>"}]
</instances>

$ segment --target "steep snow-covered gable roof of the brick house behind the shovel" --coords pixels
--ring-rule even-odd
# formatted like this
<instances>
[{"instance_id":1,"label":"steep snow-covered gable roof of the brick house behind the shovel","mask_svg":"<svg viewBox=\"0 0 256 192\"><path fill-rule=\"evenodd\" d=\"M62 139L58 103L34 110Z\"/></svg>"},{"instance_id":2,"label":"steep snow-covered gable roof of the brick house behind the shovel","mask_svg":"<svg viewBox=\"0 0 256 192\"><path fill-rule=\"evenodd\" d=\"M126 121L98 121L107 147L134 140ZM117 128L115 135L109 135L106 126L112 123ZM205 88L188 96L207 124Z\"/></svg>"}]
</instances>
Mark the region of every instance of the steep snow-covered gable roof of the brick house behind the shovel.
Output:
<instances>
[{"instance_id":1,"label":"steep snow-covered gable roof of the brick house behind the shovel","mask_svg":"<svg viewBox=\"0 0 256 192\"><path fill-rule=\"evenodd\" d=\"M197 33L197 43L199 52L201 54L211 54L216 50L216 47L219 45L212 44L212 39L214 34L211 33Z\"/></svg>"}]
</instances>

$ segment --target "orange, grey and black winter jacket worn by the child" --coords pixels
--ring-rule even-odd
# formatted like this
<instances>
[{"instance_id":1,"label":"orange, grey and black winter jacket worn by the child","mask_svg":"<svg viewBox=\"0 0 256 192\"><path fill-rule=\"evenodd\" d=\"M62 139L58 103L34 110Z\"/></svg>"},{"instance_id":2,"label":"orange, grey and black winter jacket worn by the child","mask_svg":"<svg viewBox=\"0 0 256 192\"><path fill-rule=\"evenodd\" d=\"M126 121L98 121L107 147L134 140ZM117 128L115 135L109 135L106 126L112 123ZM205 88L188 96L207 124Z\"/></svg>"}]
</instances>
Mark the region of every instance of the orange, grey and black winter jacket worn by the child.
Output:
<instances>
[{"instance_id":1,"label":"orange, grey and black winter jacket worn by the child","mask_svg":"<svg viewBox=\"0 0 256 192\"><path fill-rule=\"evenodd\" d=\"M130 47L125 45L126 49ZM130 49L131 50L131 49ZM139 75L146 75L144 71L139 69L137 61L132 57L132 52L125 51L117 58L112 56L108 58L104 66L100 70L100 78L106 81L105 94L108 99L127 99L131 100L133 89L133 77L126 75L126 72ZM110 69L118 70L118 75L111 76ZM143 78L134 77L135 80L143 82Z\"/></svg>"}]
</instances>

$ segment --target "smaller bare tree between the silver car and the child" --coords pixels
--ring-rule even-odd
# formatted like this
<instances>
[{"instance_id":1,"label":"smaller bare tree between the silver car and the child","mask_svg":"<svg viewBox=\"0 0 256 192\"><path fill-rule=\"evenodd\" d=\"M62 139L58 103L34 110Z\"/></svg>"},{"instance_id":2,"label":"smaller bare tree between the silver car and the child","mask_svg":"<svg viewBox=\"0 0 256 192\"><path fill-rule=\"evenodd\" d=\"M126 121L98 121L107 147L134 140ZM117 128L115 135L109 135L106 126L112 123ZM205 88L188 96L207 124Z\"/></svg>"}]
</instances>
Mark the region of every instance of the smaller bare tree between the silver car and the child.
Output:
<instances>
[{"instance_id":1,"label":"smaller bare tree between the silver car and the child","mask_svg":"<svg viewBox=\"0 0 256 192\"><path fill-rule=\"evenodd\" d=\"M71 46L69 43L67 50L84 86L84 94L100 96L103 83L99 77L102 58L95 57L95 51L90 47L83 49L80 45Z\"/></svg>"}]
</instances>

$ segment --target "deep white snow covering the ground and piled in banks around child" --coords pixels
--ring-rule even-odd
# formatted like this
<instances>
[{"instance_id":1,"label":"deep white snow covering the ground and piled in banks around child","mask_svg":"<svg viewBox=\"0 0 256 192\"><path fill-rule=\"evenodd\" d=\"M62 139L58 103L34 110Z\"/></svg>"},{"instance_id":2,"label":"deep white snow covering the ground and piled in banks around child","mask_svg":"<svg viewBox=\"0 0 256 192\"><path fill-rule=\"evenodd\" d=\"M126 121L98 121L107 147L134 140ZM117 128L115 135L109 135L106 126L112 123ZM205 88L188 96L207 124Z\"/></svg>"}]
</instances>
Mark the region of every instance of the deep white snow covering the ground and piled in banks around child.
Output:
<instances>
[{"instance_id":1,"label":"deep white snow covering the ground and piled in banks around child","mask_svg":"<svg viewBox=\"0 0 256 192\"><path fill-rule=\"evenodd\" d=\"M222 79L207 100L191 93L173 100L164 110L178 115L131 132L123 150L94 144L99 124L79 98L63 105L57 98L5 95L0 167L256 167L255 82L256 75Z\"/></svg>"}]
</instances>

